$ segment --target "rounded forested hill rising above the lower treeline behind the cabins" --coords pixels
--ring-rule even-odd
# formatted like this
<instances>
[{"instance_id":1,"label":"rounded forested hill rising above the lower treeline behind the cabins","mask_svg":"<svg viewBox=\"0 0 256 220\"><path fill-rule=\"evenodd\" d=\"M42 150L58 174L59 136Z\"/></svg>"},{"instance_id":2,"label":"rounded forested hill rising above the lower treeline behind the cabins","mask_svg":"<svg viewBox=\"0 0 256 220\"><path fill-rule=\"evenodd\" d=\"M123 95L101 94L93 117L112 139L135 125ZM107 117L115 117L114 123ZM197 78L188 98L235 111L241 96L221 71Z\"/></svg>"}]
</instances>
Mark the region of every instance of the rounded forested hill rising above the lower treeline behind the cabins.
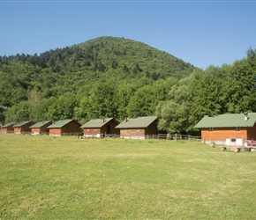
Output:
<instances>
[{"instance_id":1,"label":"rounded forested hill rising above the lower treeline behind the cabins","mask_svg":"<svg viewBox=\"0 0 256 220\"><path fill-rule=\"evenodd\" d=\"M33 106L41 99L58 99L67 92L81 99L109 84L130 84L132 96L139 87L170 77L187 77L194 69L166 52L117 37L100 37L41 55L0 56L0 107L4 112L22 101ZM26 117L32 116L28 113ZM2 114L0 121L4 118Z\"/></svg>"}]
</instances>

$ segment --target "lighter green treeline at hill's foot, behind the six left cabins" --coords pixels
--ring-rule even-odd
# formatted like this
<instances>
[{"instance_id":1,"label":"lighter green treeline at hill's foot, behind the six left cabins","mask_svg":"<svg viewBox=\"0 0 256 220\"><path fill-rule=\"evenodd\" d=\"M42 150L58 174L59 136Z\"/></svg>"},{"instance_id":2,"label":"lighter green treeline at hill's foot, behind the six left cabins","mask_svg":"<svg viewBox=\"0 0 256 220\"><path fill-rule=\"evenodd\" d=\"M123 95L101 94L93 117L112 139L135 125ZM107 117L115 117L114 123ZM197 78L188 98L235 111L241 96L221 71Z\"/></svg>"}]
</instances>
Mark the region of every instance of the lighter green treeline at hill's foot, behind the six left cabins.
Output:
<instances>
[{"instance_id":1,"label":"lighter green treeline at hill's foot, behind the six left cabins","mask_svg":"<svg viewBox=\"0 0 256 220\"><path fill-rule=\"evenodd\" d=\"M5 121L75 119L84 123L103 117L123 120L125 116L154 115L155 106L166 100L169 90L177 82L171 77L154 83L144 78L138 84L109 79L94 84L88 94L65 92L58 97L42 98L41 92L30 92L27 100L7 108L4 117Z\"/></svg>"}]
</instances>

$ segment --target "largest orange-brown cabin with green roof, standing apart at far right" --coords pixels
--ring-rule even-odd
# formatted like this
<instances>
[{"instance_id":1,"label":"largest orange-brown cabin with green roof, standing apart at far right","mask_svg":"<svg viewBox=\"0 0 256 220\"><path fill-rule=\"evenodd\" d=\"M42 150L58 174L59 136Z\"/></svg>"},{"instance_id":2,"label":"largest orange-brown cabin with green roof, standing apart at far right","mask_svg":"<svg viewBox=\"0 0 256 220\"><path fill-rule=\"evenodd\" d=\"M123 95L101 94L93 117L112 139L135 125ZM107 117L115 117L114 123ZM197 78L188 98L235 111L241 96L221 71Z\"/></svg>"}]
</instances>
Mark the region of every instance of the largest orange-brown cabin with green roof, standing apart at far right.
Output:
<instances>
[{"instance_id":1,"label":"largest orange-brown cabin with green roof, standing apart at far right","mask_svg":"<svg viewBox=\"0 0 256 220\"><path fill-rule=\"evenodd\" d=\"M203 142L243 145L256 140L256 113L204 116L194 128L200 128Z\"/></svg>"}]
</instances>

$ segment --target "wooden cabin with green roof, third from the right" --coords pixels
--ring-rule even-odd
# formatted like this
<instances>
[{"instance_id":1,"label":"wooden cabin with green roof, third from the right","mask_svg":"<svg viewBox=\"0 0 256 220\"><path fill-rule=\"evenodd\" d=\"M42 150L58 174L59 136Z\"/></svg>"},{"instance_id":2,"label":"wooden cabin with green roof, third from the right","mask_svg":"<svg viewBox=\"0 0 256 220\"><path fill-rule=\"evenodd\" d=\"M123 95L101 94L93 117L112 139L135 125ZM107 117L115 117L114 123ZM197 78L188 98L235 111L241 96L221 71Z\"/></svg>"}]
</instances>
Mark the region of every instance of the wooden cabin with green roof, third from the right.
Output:
<instances>
[{"instance_id":1,"label":"wooden cabin with green roof, third from the right","mask_svg":"<svg viewBox=\"0 0 256 220\"><path fill-rule=\"evenodd\" d=\"M118 124L119 122L114 118L94 119L85 123L81 128L84 136L87 137L112 136L120 134L120 130L116 128Z\"/></svg>"}]
</instances>

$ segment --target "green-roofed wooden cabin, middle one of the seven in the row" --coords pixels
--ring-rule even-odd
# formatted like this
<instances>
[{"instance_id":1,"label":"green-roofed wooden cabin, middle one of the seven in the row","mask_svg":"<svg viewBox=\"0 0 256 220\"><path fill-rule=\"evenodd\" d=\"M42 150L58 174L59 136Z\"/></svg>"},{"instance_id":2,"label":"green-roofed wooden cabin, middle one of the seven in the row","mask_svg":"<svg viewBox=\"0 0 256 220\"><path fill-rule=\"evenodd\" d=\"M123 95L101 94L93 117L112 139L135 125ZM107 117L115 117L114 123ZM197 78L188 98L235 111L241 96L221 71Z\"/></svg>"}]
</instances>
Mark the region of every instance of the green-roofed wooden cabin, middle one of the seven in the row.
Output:
<instances>
[{"instance_id":1,"label":"green-roofed wooden cabin, middle one of the seven in the row","mask_svg":"<svg viewBox=\"0 0 256 220\"><path fill-rule=\"evenodd\" d=\"M53 121L49 127L49 136L76 136L81 133L81 124L72 119Z\"/></svg>"}]
</instances>

